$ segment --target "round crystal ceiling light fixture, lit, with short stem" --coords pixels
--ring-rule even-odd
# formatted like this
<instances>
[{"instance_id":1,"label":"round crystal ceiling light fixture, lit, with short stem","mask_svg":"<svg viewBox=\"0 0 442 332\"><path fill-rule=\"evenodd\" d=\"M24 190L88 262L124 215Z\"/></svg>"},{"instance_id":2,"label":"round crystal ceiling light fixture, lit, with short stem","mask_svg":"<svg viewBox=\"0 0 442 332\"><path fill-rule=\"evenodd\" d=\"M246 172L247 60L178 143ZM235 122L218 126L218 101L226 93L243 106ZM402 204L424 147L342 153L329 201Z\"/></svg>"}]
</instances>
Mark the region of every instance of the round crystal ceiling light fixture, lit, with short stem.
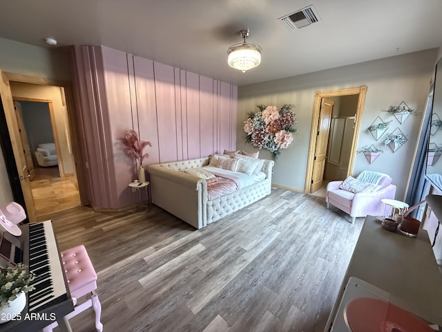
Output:
<instances>
[{"instance_id":1,"label":"round crystal ceiling light fixture, lit, with short stem","mask_svg":"<svg viewBox=\"0 0 442 332\"><path fill-rule=\"evenodd\" d=\"M249 44L246 42L246 38L249 37L250 30L241 30L240 36L244 39L243 43L234 44L227 49L227 63L232 68L238 69L245 73L251 68L255 68L261 63L262 48L255 44Z\"/></svg>"}]
</instances>

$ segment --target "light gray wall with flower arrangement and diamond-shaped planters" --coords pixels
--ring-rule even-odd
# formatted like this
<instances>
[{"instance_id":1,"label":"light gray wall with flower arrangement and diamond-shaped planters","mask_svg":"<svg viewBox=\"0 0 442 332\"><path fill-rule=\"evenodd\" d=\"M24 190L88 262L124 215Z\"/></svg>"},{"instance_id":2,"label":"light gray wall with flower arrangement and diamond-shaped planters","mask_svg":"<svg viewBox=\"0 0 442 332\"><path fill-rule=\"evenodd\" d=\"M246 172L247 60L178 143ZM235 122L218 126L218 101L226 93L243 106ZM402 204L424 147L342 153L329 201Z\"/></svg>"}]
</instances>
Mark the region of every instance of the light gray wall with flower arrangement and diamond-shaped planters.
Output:
<instances>
[{"instance_id":1,"label":"light gray wall with flower arrangement and diamond-shaped planters","mask_svg":"<svg viewBox=\"0 0 442 332\"><path fill-rule=\"evenodd\" d=\"M358 148L376 142L364 131L376 116L387 119L385 111L390 106L405 101L409 107L419 112L416 116L410 116L403 124L394 120L389 128L393 130L399 127L403 131L408 139L403 147L394 154L390 149L384 148L384 153L371 165L367 163L363 154L357 154L354 164L353 175L361 173L364 169L390 174L393 183L398 187L396 199L403 199L430 80L434 75L436 57L437 49L424 50L282 80L240 86L237 148L254 150L253 146L245 142L242 127L247 113L257 111L256 105L280 107L285 103L295 104L298 132L294 136L294 142L288 149L282 150L280 158L276 161L272 180L278 185L304 190L315 93L367 86ZM381 140L375 145L380 146ZM267 150L261 150L260 156L271 158Z\"/></svg>"}]
</instances>

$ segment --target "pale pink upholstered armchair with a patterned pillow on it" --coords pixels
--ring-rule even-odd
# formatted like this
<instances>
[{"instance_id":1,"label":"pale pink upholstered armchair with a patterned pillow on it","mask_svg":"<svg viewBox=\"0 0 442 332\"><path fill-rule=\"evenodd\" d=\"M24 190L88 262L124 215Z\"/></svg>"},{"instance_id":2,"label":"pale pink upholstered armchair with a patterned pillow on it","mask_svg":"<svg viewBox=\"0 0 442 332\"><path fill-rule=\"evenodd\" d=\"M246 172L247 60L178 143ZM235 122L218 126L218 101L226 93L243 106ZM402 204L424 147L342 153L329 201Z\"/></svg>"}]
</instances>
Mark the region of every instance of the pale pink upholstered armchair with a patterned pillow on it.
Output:
<instances>
[{"instance_id":1,"label":"pale pink upholstered armchair with a patterned pillow on it","mask_svg":"<svg viewBox=\"0 0 442 332\"><path fill-rule=\"evenodd\" d=\"M357 178L349 176L345 181L332 181L327 185L327 208L336 206L352 217L383 214L382 199L394 199L396 185L387 174L363 171Z\"/></svg>"}]
</instances>

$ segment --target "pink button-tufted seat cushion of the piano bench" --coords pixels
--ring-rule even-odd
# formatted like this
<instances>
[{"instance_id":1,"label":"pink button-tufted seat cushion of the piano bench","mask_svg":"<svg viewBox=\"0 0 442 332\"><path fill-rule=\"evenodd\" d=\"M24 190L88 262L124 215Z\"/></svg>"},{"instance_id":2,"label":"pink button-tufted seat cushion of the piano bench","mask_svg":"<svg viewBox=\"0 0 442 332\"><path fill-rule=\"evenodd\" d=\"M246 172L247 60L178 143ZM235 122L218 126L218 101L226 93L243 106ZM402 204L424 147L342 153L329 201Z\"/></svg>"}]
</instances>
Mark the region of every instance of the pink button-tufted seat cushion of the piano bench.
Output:
<instances>
[{"instance_id":1,"label":"pink button-tufted seat cushion of the piano bench","mask_svg":"<svg viewBox=\"0 0 442 332\"><path fill-rule=\"evenodd\" d=\"M97 273L83 245L62 251L61 260L71 293L97 280Z\"/></svg>"}]
</instances>

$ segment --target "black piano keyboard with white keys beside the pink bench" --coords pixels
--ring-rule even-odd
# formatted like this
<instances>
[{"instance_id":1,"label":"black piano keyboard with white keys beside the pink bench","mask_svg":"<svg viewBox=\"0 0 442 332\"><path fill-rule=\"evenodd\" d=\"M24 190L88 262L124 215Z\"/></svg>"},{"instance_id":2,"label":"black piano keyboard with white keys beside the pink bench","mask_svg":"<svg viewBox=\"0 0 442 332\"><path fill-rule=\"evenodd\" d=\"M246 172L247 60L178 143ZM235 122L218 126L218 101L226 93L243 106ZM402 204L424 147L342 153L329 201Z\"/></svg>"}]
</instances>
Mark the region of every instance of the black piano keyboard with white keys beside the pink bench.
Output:
<instances>
[{"instance_id":1,"label":"black piano keyboard with white keys beside the pink bench","mask_svg":"<svg viewBox=\"0 0 442 332\"><path fill-rule=\"evenodd\" d=\"M0 324L0 332L40 331L57 320L61 331L71 331L67 320L68 313L74 310L57 239L52 229L52 221L21 225L19 239L23 250L23 264L37 276L32 285L34 291L27 294L27 304L20 320Z\"/></svg>"}]
</instances>

